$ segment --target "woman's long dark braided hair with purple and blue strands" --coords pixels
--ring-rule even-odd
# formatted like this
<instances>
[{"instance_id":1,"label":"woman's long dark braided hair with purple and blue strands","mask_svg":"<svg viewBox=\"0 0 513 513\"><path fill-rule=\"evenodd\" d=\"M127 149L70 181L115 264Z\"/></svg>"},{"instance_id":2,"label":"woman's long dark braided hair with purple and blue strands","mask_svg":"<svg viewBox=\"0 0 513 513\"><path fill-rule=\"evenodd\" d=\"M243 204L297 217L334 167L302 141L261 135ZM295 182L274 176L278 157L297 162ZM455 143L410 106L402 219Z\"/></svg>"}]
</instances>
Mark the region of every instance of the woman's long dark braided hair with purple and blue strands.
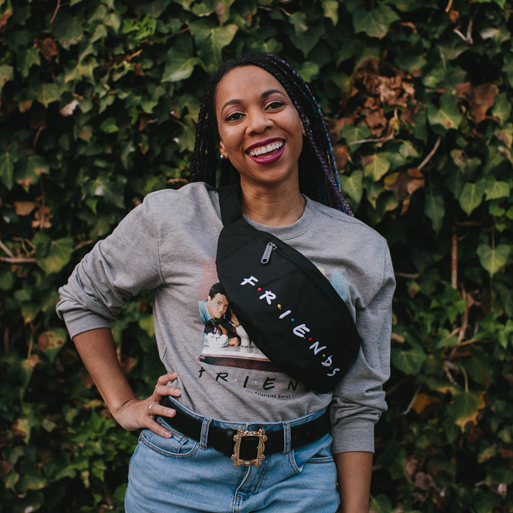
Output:
<instances>
[{"instance_id":1,"label":"woman's long dark braided hair with purple and blue strands","mask_svg":"<svg viewBox=\"0 0 513 513\"><path fill-rule=\"evenodd\" d=\"M312 200L354 216L340 190L331 142L315 97L299 74L271 53L249 53L223 61L210 75L196 125L191 181L203 181L216 187L236 180L226 160L221 161L219 176L216 173L219 167L219 133L215 116L215 91L223 76L242 66L258 66L274 76L298 111L307 139L299 157L300 191Z\"/></svg>"}]
</instances>

